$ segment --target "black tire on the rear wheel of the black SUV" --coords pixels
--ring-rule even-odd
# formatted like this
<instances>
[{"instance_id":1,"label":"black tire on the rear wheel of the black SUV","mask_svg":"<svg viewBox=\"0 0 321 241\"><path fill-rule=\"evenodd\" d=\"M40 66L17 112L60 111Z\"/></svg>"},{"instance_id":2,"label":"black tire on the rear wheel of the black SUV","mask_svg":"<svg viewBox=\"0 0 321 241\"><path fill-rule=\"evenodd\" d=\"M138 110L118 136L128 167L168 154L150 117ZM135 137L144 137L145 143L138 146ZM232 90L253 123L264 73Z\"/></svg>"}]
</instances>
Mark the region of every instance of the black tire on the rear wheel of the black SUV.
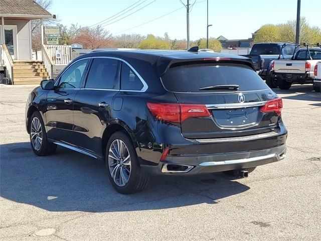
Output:
<instances>
[{"instance_id":1,"label":"black tire on the rear wheel of the black SUV","mask_svg":"<svg viewBox=\"0 0 321 241\"><path fill-rule=\"evenodd\" d=\"M117 142L117 140L122 141L122 143L125 145L125 148L127 150L127 154L129 153L129 160L130 160L130 172L128 175L128 180L127 182L124 184L124 181L122 181L122 184L124 184L123 186L120 186L120 172L122 170L125 170L123 165L121 165L115 172L114 172L114 177L116 178L116 174L119 170L119 178L114 180L114 178L112 177L112 167L110 167L110 162L114 161L114 164L111 165L115 165L116 163L118 163L119 165L121 164L120 161L116 161L115 159L110 159L109 157L109 149L111 147L111 145L115 142ZM122 144L122 145L123 145ZM113 148L113 147L112 147ZM111 149L112 150L112 149ZM116 150L116 148L114 148L114 151ZM124 149L125 150L125 149ZM119 155L121 156L121 155ZM121 157L121 160L123 157ZM109 162L110 161L110 162ZM140 165L138 162L138 158L137 158L137 154L136 151L133 147L133 144L131 142L131 140L127 137L127 135L123 132L115 132L113 135L111 135L110 139L108 140L107 146L106 146L106 151L105 151L105 163L106 163L106 171L107 171L107 175L108 178L113 186L113 188L122 194L130 194L130 193L135 193L138 191L141 191L142 189L144 189L147 186L147 183L149 181L149 177L150 175L147 173L143 173L142 170L140 169ZM123 162L125 163L125 162ZM116 164L116 166L118 166L118 164ZM128 165L128 164L127 164ZM123 169L122 169L123 168ZM116 167L115 167L116 169ZM127 170L126 170L127 171ZM126 173L127 174L127 173ZM119 184L117 184L117 181L119 182Z\"/></svg>"}]
</instances>

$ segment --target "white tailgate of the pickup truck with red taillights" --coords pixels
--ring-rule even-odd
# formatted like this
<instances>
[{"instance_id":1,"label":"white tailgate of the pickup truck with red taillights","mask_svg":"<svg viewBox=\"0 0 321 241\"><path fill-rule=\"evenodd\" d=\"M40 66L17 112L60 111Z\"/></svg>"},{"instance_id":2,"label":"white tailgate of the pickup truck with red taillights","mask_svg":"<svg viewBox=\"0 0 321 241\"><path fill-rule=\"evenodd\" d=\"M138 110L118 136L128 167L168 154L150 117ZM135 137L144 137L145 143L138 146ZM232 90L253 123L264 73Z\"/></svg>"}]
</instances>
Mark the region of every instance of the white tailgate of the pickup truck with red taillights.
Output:
<instances>
[{"instance_id":1,"label":"white tailgate of the pickup truck with red taillights","mask_svg":"<svg viewBox=\"0 0 321 241\"><path fill-rule=\"evenodd\" d=\"M305 60L274 60L275 73L305 73Z\"/></svg>"}]
</instances>

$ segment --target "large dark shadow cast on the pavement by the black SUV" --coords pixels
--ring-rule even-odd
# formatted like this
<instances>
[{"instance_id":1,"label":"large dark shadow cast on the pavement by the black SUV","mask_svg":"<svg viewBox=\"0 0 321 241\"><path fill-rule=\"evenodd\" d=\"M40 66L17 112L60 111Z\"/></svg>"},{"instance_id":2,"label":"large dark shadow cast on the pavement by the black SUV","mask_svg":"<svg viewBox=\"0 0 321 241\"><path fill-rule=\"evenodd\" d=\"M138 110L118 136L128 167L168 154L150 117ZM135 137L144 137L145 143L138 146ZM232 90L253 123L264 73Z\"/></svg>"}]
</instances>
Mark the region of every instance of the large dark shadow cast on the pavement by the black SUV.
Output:
<instances>
[{"instance_id":1,"label":"large dark shadow cast on the pavement by the black SUV","mask_svg":"<svg viewBox=\"0 0 321 241\"><path fill-rule=\"evenodd\" d=\"M249 187L224 174L152 177L142 192L114 191L101 161L58 148L36 156L29 143L0 145L0 195L49 211L111 212L173 208L242 193Z\"/></svg>"}]
</instances>

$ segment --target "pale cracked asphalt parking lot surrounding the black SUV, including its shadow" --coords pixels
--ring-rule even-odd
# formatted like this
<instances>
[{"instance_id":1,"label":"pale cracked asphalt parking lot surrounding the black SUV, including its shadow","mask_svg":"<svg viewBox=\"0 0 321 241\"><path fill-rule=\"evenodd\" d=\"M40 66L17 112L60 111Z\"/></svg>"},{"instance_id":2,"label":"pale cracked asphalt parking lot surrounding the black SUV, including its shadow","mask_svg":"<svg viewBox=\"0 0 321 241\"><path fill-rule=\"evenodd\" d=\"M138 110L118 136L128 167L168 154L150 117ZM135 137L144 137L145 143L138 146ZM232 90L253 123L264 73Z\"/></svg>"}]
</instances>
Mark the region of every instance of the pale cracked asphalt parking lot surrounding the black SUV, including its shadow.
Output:
<instances>
[{"instance_id":1,"label":"pale cracked asphalt parking lot surrounding the black SUV, including its shadow","mask_svg":"<svg viewBox=\"0 0 321 241\"><path fill-rule=\"evenodd\" d=\"M321 95L283 98L287 154L249 178L154 177L140 193L114 191L102 162L58 148L37 157L24 126L34 88L0 86L1 240L319 240Z\"/></svg>"}]
</instances>

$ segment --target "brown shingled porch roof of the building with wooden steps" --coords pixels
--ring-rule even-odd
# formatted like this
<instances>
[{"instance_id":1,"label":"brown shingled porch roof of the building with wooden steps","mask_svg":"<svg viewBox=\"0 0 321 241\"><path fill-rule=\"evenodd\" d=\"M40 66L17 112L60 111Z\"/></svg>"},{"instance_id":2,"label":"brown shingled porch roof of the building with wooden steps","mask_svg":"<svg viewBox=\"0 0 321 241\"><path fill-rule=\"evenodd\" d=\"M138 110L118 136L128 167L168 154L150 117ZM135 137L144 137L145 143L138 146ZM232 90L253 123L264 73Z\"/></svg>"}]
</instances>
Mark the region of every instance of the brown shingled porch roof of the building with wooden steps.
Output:
<instances>
[{"instance_id":1,"label":"brown shingled porch roof of the building with wooden steps","mask_svg":"<svg viewBox=\"0 0 321 241\"><path fill-rule=\"evenodd\" d=\"M40 19L52 15L33 0L1 0L0 17Z\"/></svg>"}]
</instances>

